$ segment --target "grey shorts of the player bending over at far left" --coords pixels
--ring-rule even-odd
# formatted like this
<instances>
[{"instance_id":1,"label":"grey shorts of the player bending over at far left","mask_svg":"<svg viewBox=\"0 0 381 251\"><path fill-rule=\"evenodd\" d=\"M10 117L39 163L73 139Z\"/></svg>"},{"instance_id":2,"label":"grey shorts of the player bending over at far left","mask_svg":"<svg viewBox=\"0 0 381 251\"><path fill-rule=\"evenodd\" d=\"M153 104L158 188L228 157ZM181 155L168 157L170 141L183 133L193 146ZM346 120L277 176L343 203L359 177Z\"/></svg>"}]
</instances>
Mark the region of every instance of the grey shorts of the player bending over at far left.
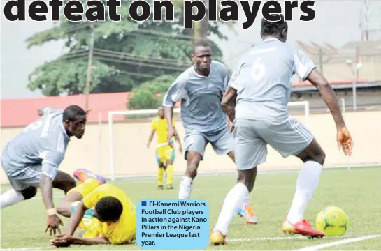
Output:
<instances>
[{"instance_id":1,"label":"grey shorts of the player bending over at far left","mask_svg":"<svg viewBox=\"0 0 381 251\"><path fill-rule=\"evenodd\" d=\"M41 164L24 167L23 169L15 169L6 161L1 160L1 166L8 176L10 185L17 192L21 192L29 187L39 187L42 174Z\"/></svg>"}]
</instances>

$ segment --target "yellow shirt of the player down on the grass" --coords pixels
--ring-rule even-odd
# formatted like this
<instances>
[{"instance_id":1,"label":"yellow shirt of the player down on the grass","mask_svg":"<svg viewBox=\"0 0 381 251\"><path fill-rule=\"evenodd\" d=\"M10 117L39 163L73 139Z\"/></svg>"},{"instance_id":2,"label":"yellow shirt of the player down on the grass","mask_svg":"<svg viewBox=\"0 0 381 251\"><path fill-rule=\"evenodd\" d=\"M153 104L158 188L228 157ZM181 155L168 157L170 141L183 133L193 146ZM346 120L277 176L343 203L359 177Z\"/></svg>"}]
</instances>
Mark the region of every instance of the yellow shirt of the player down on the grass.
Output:
<instances>
[{"instance_id":1,"label":"yellow shirt of the player down on the grass","mask_svg":"<svg viewBox=\"0 0 381 251\"><path fill-rule=\"evenodd\" d=\"M123 211L119 220L111 225L107 225L106 222L99 222L99 233L104 238L108 238L112 244L133 241L136 238L136 207L123 190L115 187L115 185L99 185L83 199L83 204L87 208L94 208L99 199L106 196L119 199L122 202Z\"/></svg>"}]
</instances>

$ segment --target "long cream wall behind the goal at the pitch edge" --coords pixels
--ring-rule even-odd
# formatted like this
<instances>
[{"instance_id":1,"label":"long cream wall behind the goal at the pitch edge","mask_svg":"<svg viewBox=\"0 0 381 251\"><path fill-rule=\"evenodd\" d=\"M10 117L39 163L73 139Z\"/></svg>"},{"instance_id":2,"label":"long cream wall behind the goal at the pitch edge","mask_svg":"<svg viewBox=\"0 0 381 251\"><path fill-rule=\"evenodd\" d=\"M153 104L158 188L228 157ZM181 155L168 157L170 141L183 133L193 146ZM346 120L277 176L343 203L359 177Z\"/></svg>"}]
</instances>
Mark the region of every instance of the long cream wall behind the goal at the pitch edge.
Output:
<instances>
[{"instance_id":1,"label":"long cream wall behind the goal at the pitch edge","mask_svg":"<svg viewBox=\"0 0 381 251\"><path fill-rule=\"evenodd\" d=\"M346 121L354 137L354 153L347 158L336 146L336 130L331 114L312 114L308 120L308 128L312 130L318 142L326 152L326 167L350 165L373 165L381 163L381 111L347 112ZM302 122L304 116L295 116ZM180 121L177 122L180 135L184 130ZM117 123L113 126L116 175L155 175L154 142L150 149L145 144L150 133L150 123ZM10 139L15 137L22 128L1 129L1 149ZM99 126L89 125L85 136L78 140L72 139L66 158L60 167L65 172L73 172L78 167L85 167L104 175L109 175L109 140L108 125L101 126L101 147L99 149ZM99 169L99 160L101 169ZM290 157L283 159L278 153L268 147L268 158L260 170L295 169L301 162ZM205 160L199 167L199 172L227 172L235 169L227 156L217 156L210 146L207 147ZM185 160L178 155L175 160L175 173L182 174L185 170ZM3 170L0 171L1 183L8 183Z\"/></svg>"}]
</instances>

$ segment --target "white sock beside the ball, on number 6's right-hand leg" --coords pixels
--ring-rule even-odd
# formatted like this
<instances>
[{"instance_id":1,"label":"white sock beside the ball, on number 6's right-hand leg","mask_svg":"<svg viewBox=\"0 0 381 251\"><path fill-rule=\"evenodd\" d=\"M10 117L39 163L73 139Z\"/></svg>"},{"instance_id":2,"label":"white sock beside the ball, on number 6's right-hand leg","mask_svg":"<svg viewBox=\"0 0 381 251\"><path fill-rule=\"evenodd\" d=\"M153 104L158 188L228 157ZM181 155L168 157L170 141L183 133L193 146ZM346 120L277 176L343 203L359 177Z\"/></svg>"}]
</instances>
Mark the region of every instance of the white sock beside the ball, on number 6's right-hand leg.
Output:
<instances>
[{"instance_id":1,"label":"white sock beside the ball, on number 6's right-hand leg","mask_svg":"<svg viewBox=\"0 0 381 251\"><path fill-rule=\"evenodd\" d=\"M319 184L322 168L322 165L315 161L306 161L304 163L296 181L294 199L292 199L291 208L289 208L287 215L287 220L290 223L295 224L303 220L305 207Z\"/></svg>"}]
</instances>

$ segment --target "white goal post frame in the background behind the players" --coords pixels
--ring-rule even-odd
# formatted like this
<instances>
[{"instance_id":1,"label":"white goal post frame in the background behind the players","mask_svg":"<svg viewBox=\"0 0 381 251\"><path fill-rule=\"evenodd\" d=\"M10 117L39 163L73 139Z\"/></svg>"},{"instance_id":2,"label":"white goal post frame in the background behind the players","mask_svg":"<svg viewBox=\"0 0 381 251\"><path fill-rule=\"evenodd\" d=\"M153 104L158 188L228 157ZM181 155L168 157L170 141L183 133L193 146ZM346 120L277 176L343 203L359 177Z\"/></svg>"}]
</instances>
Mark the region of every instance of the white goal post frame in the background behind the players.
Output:
<instances>
[{"instance_id":1,"label":"white goal post frame in the background behind the players","mask_svg":"<svg viewBox=\"0 0 381 251\"><path fill-rule=\"evenodd\" d=\"M297 101L297 102L289 102L289 107L303 107L304 108L304 116L305 116L305 124L308 125L308 119L310 116L310 103L308 101ZM173 114L179 114L180 109L173 109ZM131 116L131 115L152 115L156 116L157 109L141 109L141 110L132 110L132 111L110 111L108 112L108 137L109 137L109 172L110 179L115 181L115 149L114 149L114 117L115 116ZM124 119L124 121L128 121L128 119ZM101 128L100 128L101 130ZM100 138L101 139L101 138ZM99 144L102 144L99 142Z\"/></svg>"}]
</instances>

